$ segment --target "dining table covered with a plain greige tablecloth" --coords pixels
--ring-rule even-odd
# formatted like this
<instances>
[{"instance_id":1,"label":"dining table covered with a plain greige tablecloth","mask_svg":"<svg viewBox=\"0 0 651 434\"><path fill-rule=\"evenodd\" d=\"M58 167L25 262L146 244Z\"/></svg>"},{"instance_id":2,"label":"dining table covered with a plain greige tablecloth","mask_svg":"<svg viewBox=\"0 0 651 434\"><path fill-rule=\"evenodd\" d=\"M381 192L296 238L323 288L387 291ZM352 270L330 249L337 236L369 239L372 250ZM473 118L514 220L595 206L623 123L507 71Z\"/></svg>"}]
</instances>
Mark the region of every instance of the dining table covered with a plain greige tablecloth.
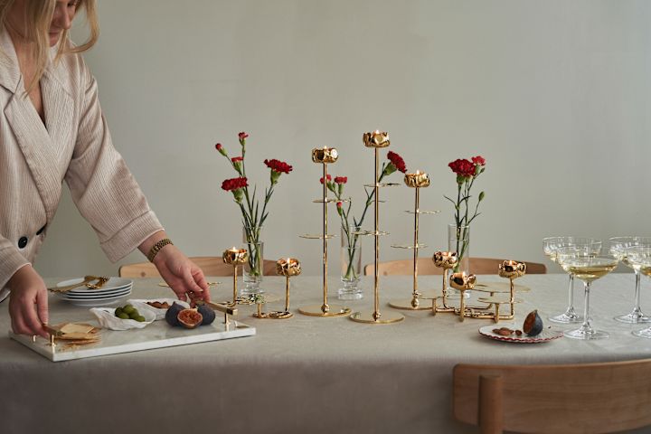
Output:
<instances>
[{"instance_id":1,"label":"dining table covered with a plain greige tablecloth","mask_svg":"<svg viewBox=\"0 0 651 434\"><path fill-rule=\"evenodd\" d=\"M51 286L67 278L45 281ZM213 300L231 297L232 278L208 279L220 281L212 287ZM477 283L507 281L477 276ZM135 278L130 297L170 297L161 282ZM372 276L363 277L359 300L338 300L339 283L338 276L328 278L329 304L353 312L373 307ZM546 330L577 328L547 320L567 305L566 274L525 275L515 283L530 290L518 294L522 302L514 305L514 320L460 321L451 313L400 310L404 320L379 325L348 316L301 315L299 307L323 301L323 277L302 275L291 279L289 311L294 315L288 319L258 319L252 316L256 306L238 306L236 320L255 327L255 335L56 363L10 337L5 302L0 305L0 432L470 433L478 430L455 420L452 412L452 370L458 363L598 363L651 357L651 339L631 334L646 325L613 319L633 308L633 274L611 273L592 285L592 324L609 332L609 338L600 340L559 337L520 343L480 335L486 325L520 328L534 309ZM273 301L263 310L284 309L285 285L285 278L264 277L261 288ZM380 311L395 311L388 302L410 298L413 278L381 276L378 285ZM441 285L441 276L419 276L425 295L440 295ZM582 312L581 282L575 287L575 306ZM651 283L643 278L642 308L647 313L649 289ZM473 297L477 294L469 303ZM95 320L89 307L73 306L53 294L49 306L51 324Z\"/></svg>"}]
</instances>

